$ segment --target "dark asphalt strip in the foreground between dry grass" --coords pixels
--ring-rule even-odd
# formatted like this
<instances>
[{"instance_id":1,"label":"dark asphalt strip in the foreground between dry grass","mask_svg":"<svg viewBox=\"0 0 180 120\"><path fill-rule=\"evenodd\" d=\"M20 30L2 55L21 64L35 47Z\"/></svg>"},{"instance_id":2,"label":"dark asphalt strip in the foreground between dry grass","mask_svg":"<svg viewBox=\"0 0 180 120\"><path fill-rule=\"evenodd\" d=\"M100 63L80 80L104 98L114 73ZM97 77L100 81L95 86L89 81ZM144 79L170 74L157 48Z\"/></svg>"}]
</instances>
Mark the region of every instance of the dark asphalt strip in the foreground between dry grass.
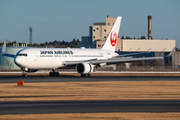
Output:
<instances>
[{"instance_id":1,"label":"dark asphalt strip in the foreground between dry grass","mask_svg":"<svg viewBox=\"0 0 180 120\"><path fill-rule=\"evenodd\" d=\"M47 101L0 102L0 114L180 112L180 101Z\"/></svg>"}]
</instances>

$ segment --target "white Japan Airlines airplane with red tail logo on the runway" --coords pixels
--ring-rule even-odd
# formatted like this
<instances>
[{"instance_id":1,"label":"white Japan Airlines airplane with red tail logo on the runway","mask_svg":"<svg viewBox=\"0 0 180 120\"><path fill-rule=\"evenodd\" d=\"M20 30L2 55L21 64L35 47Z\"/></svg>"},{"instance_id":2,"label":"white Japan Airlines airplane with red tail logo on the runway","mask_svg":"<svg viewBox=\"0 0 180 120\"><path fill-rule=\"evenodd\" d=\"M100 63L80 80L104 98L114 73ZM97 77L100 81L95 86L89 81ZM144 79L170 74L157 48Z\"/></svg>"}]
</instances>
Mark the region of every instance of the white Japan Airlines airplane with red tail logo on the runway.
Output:
<instances>
[{"instance_id":1,"label":"white Japan Airlines airplane with red tail logo on the runway","mask_svg":"<svg viewBox=\"0 0 180 120\"><path fill-rule=\"evenodd\" d=\"M133 54L119 55L115 53L117 37L119 34L121 16L118 16L103 47L95 48L25 48L17 52L16 55L6 53L6 40L4 41L3 56L14 58L14 62L22 70L22 76L27 76L27 72L36 72L40 69L52 69L49 76L59 76L56 69L73 67L81 74L81 77L89 77L93 70L103 65L116 63L127 63L142 60L164 59L160 57L132 58L125 57ZM177 45L168 56L171 56ZM139 53L134 53L139 54Z\"/></svg>"}]
</instances>

